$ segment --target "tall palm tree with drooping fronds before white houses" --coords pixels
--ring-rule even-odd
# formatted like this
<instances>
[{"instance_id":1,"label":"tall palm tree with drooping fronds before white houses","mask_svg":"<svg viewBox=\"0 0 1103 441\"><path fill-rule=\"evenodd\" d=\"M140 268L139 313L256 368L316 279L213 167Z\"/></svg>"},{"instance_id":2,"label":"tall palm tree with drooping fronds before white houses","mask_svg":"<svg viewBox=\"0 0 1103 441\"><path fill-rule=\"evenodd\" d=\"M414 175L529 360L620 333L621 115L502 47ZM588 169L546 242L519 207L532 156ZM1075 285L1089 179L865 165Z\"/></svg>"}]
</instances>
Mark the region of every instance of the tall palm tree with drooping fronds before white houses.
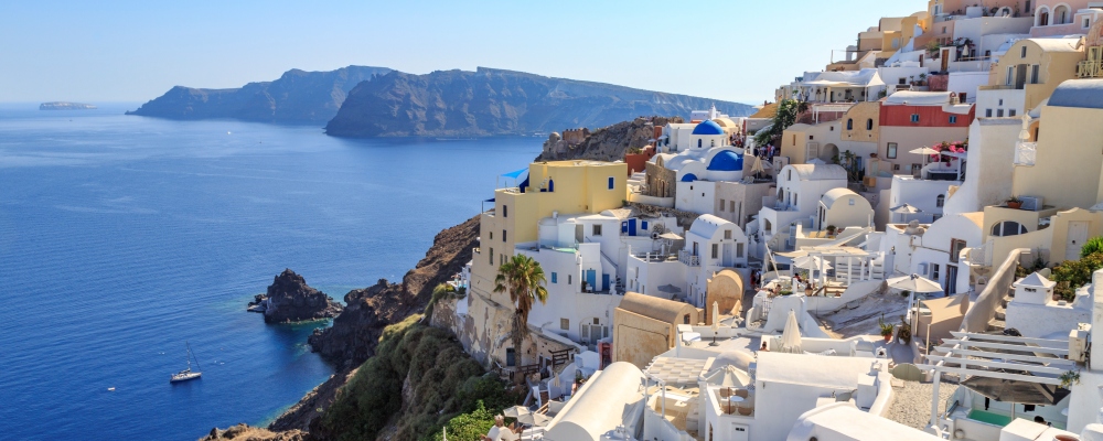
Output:
<instances>
[{"instance_id":1,"label":"tall palm tree with drooping fronds before white houses","mask_svg":"<svg viewBox=\"0 0 1103 441\"><path fill-rule=\"evenodd\" d=\"M547 303L548 290L544 287L546 283L544 268L528 256L513 256L510 261L497 268L494 292L508 292L510 301L516 305L516 311L513 313L512 336L518 366L523 365L520 363L523 359L521 345L528 335L528 312L533 310L536 300L539 300L540 304Z\"/></svg>"}]
</instances>

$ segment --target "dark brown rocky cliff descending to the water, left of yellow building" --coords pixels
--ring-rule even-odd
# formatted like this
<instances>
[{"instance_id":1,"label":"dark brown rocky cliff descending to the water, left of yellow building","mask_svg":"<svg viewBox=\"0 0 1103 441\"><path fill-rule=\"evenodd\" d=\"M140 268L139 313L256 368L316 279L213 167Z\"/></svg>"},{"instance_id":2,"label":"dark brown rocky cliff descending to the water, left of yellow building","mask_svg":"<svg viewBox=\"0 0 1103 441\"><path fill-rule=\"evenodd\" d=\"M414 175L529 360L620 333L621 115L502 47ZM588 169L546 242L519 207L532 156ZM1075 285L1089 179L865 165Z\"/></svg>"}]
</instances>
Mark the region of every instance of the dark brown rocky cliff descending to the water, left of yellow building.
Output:
<instances>
[{"instance_id":1,"label":"dark brown rocky cliff descending to the water, left of yellow building","mask_svg":"<svg viewBox=\"0 0 1103 441\"><path fill-rule=\"evenodd\" d=\"M311 348L349 369L372 356L383 329L425 310L432 289L451 279L471 260L476 246L479 217L445 229L433 238L432 247L400 283L379 279L378 283L345 294L345 310L333 326L314 331Z\"/></svg>"}]
</instances>

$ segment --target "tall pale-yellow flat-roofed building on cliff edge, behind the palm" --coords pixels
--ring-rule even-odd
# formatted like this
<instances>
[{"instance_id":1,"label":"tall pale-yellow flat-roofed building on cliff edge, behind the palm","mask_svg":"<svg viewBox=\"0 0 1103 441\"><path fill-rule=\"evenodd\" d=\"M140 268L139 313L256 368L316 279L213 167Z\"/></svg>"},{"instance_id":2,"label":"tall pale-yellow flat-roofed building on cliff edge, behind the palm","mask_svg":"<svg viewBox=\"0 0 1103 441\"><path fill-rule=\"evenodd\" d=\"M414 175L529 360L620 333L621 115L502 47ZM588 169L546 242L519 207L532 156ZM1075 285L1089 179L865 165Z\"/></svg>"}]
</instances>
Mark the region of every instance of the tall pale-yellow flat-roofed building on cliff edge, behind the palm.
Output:
<instances>
[{"instance_id":1,"label":"tall pale-yellow flat-roofed building on cliff edge, behind the palm","mask_svg":"<svg viewBox=\"0 0 1103 441\"><path fill-rule=\"evenodd\" d=\"M469 314L474 335L469 353L484 362L506 365L514 306L508 293L495 293L497 268L511 258L518 243L538 239L537 223L556 214L597 214L619 208L628 198L628 165L596 161L532 163L526 187L499 189L494 208L480 217L479 248L474 249L469 291ZM512 348L508 348L512 351ZM524 357L529 361L529 356ZM521 361L521 357L514 358Z\"/></svg>"}]
</instances>

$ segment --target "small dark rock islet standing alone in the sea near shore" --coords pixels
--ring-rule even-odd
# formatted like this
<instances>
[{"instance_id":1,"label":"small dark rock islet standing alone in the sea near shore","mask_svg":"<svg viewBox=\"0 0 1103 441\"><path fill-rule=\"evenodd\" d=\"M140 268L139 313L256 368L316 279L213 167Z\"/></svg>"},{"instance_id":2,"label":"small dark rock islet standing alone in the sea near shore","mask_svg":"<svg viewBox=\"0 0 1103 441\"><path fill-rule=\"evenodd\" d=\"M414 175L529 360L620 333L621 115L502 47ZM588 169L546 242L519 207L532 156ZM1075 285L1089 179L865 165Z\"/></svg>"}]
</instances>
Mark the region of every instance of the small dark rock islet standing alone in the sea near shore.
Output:
<instances>
[{"instance_id":1,"label":"small dark rock islet standing alone in the sea near shore","mask_svg":"<svg viewBox=\"0 0 1103 441\"><path fill-rule=\"evenodd\" d=\"M265 322L287 323L332 318L341 313L341 304L324 292L310 288L307 281L285 269L265 297Z\"/></svg>"}]
</instances>

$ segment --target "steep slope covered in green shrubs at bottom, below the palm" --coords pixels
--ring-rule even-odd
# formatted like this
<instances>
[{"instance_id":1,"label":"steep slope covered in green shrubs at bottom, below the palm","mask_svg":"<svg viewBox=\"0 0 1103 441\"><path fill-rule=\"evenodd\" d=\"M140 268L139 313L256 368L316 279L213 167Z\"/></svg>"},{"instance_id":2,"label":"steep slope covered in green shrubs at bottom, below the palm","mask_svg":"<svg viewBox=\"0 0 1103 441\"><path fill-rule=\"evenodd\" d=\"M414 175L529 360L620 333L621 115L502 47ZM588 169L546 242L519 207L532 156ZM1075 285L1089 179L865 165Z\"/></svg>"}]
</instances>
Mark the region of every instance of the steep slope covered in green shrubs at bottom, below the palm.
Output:
<instances>
[{"instance_id":1,"label":"steep slope covered in green shrubs at bottom, below the palm","mask_svg":"<svg viewBox=\"0 0 1103 441\"><path fill-rule=\"evenodd\" d=\"M375 439L388 422L394 439L428 439L452 418L512 405L505 385L484 377L454 336L420 324L421 315L387 326L376 354L338 394L320 420L321 439ZM397 418L395 418L397 416Z\"/></svg>"}]
</instances>

